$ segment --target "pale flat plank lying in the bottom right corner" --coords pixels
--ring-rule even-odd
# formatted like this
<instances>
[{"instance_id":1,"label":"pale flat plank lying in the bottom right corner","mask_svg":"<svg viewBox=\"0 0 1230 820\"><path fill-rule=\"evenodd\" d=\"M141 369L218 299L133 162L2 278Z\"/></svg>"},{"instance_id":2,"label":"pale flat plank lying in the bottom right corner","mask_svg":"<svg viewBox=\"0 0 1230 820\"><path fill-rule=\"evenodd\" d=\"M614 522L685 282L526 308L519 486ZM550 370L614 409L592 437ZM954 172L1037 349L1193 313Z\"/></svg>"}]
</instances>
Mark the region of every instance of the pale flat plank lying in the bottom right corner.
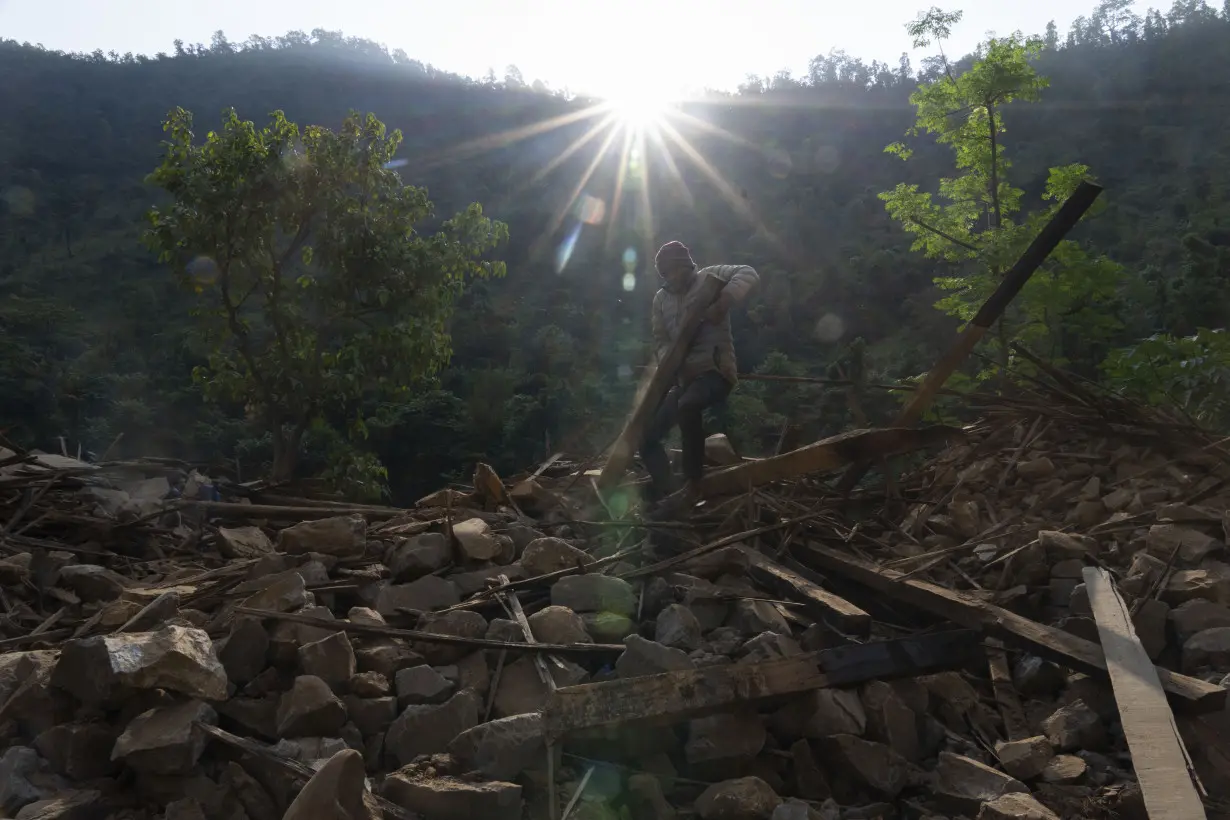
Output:
<instances>
[{"instance_id":1,"label":"pale flat plank lying in the bottom right corner","mask_svg":"<svg viewBox=\"0 0 1230 820\"><path fill-rule=\"evenodd\" d=\"M1105 569L1082 574L1145 810L1150 820L1204 820L1191 760L1132 613Z\"/></svg>"}]
</instances>

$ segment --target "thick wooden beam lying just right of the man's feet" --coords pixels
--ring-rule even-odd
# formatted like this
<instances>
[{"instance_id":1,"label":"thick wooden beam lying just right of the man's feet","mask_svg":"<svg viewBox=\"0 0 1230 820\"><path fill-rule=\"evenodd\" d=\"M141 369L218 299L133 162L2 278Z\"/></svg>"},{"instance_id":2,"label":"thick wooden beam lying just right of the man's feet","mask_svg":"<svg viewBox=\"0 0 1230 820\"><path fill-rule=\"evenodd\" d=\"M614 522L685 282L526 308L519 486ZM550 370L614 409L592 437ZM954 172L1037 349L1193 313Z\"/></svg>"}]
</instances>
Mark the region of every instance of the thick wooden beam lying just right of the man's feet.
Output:
<instances>
[{"instance_id":1,"label":"thick wooden beam lying just right of the man's feet","mask_svg":"<svg viewBox=\"0 0 1230 820\"><path fill-rule=\"evenodd\" d=\"M959 429L942 424L918 429L895 427L850 430L780 456L715 470L701 478L700 489L705 495L731 495L772 481L827 472L865 460L951 444L963 436Z\"/></svg>"}]
</instances>

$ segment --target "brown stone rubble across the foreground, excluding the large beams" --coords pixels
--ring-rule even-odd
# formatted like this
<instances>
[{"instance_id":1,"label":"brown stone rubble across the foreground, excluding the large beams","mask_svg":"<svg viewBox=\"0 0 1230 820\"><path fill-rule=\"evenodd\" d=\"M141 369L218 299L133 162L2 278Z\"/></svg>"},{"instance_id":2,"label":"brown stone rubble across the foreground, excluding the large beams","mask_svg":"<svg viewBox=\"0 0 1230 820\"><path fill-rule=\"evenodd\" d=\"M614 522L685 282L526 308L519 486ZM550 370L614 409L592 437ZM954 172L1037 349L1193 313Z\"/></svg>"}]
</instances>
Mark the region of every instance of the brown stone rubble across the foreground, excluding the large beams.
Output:
<instances>
[{"instance_id":1,"label":"brown stone rubble across the foreground, excluding the large beams","mask_svg":"<svg viewBox=\"0 0 1230 820\"><path fill-rule=\"evenodd\" d=\"M1030 654L1004 655L1011 674L998 681L982 664L550 746L542 711L556 687L771 664L922 626L839 583L877 615L851 639L753 583L748 551L785 562L797 536L765 526L774 509L830 508L801 525L808 537L1095 642L1080 569L1114 568L1150 655L1220 681L1230 491L1208 450L1175 456L1084 420L998 416L904 482L925 503L846 524L855 507L803 484L708 502L690 526L593 521L584 476L565 462L510 486L480 465L472 491L410 511L164 498L125 525L95 509L113 541L148 526L140 554L60 532L9 542L0 559L10 626L37 623L10 628L0 655L0 811L1144 816L1109 686ZM663 534L724 546L646 572L643 547Z\"/></svg>"}]
</instances>

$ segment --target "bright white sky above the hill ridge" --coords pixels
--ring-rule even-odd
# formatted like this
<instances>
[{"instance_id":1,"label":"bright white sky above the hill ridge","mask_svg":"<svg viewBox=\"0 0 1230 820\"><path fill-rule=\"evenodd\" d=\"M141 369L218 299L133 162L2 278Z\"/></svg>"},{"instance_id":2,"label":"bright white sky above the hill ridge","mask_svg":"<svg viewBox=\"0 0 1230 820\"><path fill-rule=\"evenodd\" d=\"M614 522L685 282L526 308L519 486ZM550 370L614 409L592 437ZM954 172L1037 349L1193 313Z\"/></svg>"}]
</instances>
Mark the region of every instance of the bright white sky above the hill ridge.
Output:
<instances>
[{"instance_id":1,"label":"bright white sky above the hill ridge","mask_svg":"<svg viewBox=\"0 0 1230 820\"><path fill-rule=\"evenodd\" d=\"M989 31L1060 33L1093 0L0 0L0 37L53 49L171 52L171 42L232 42L292 30L342 31L481 76L520 68L526 81L600 95L649 86L733 90L748 74L791 69L830 48L895 64L904 23L932 5L962 9L953 50ZM1138 14L1145 0L1138 0ZM1159 0L1155 0L1159 5ZM1168 0L1160 0L1168 7ZM1164 9L1165 10L1165 9ZM915 54L918 58L924 54Z\"/></svg>"}]
</instances>

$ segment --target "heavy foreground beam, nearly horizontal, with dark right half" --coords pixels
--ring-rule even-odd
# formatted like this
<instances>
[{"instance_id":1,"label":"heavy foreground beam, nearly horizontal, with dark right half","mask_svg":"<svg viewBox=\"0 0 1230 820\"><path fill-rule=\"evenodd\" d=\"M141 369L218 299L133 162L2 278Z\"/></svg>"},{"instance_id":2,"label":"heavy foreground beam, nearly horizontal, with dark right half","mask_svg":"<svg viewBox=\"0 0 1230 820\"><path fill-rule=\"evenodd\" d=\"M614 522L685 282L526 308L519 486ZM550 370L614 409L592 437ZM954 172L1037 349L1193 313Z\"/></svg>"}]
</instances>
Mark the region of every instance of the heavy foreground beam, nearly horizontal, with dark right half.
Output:
<instances>
[{"instance_id":1,"label":"heavy foreground beam, nearly horizontal, with dark right half","mask_svg":"<svg viewBox=\"0 0 1230 820\"><path fill-rule=\"evenodd\" d=\"M584 729L675 723L829 686L943 671L980 655L982 639L977 632L953 629L822 649L760 664L724 664L565 686L550 696L542 717L546 736L554 741Z\"/></svg>"}]
</instances>

